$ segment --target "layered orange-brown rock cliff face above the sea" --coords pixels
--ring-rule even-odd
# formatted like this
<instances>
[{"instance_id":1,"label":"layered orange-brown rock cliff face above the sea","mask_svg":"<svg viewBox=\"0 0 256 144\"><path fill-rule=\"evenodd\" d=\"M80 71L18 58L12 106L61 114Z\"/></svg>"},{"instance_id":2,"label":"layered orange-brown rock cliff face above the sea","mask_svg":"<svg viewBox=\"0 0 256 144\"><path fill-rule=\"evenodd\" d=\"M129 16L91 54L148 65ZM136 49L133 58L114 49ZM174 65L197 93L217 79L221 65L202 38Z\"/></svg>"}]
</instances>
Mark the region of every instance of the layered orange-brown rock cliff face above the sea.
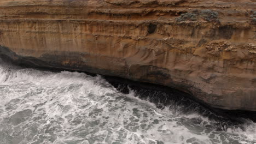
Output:
<instances>
[{"instance_id":1,"label":"layered orange-brown rock cliff face above the sea","mask_svg":"<svg viewBox=\"0 0 256 144\"><path fill-rule=\"evenodd\" d=\"M2 0L0 55L256 111L255 0Z\"/></svg>"}]
</instances>

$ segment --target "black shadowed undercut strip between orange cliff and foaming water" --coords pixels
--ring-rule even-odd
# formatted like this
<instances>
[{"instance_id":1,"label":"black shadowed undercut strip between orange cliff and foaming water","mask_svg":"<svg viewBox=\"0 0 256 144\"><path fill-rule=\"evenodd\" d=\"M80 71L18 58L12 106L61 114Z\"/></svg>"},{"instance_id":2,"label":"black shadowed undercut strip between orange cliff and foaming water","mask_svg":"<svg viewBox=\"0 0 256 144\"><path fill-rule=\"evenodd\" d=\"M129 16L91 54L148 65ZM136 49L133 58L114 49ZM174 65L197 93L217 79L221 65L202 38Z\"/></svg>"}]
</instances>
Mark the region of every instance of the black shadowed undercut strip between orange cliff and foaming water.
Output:
<instances>
[{"instance_id":1,"label":"black shadowed undercut strip between orange cliff and foaming water","mask_svg":"<svg viewBox=\"0 0 256 144\"><path fill-rule=\"evenodd\" d=\"M14 64L21 68L33 68L39 70L49 71L79 71L80 73L86 73L92 76L96 76L96 73L88 73L82 70L74 70L73 68L64 68L61 65L48 65L38 59L22 58L10 52L8 48L2 47L0 57L5 63ZM4 55L2 54L4 52ZM8 55L7 55L8 53ZM13 58L15 57L15 61ZM1 60L1 59L0 59ZM93 69L92 71L95 71ZM105 72L107 74L107 71ZM148 100L154 103L159 109L164 109L166 106L171 106L172 110L176 109L176 113L188 114L199 113L202 116L208 117L213 121L223 122L223 124L242 124L245 123L244 118L251 119L256 122L256 112L242 111L242 110L223 110L211 107L196 97L191 97L191 94L179 91L166 86L155 85L153 83L145 83L124 79L117 76L108 76L102 74L113 87L118 91L129 94L131 91L135 92L136 97L143 100ZM182 111L181 111L182 110Z\"/></svg>"}]
</instances>

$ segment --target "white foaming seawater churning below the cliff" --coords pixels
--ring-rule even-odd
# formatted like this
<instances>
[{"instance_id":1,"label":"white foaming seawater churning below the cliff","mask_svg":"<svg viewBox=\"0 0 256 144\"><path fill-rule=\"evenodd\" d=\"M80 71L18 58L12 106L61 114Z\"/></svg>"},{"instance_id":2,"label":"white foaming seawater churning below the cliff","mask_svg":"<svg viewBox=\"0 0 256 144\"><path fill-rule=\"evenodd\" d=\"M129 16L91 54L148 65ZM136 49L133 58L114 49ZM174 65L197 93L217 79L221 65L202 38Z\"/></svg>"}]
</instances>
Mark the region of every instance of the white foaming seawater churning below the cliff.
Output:
<instances>
[{"instance_id":1,"label":"white foaming seawater churning below the cliff","mask_svg":"<svg viewBox=\"0 0 256 144\"><path fill-rule=\"evenodd\" d=\"M0 143L256 143L248 119L210 118L183 98L158 109L139 96L101 76L0 64Z\"/></svg>"}]
</instances>

